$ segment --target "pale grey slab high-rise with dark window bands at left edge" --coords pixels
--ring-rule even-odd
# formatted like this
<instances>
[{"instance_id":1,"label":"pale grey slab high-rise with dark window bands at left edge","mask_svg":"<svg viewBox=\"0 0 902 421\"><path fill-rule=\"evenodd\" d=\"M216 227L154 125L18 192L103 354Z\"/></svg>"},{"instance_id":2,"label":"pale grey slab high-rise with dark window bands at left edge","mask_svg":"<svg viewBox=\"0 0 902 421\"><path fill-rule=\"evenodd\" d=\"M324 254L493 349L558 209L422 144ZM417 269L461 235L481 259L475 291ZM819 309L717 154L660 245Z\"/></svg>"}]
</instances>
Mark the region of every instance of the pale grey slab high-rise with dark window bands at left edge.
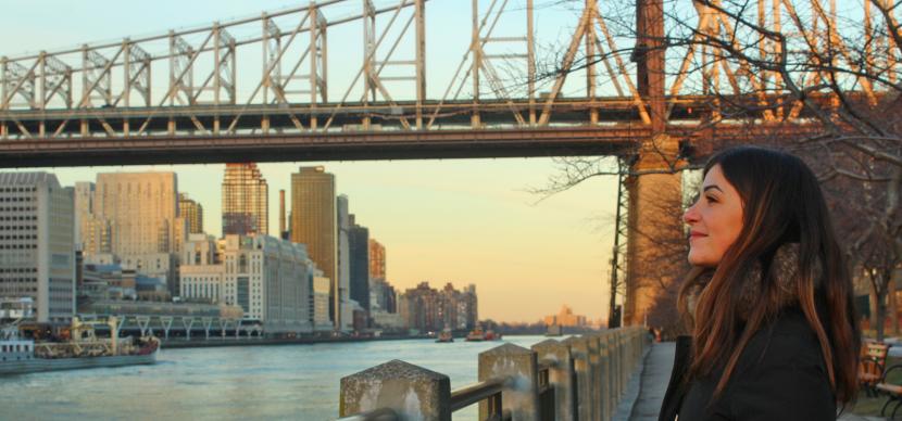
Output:
<instances>
[{"instance_id":1,"label":"pale grey slab high-rise with dark window bands at left edge","mask_svg":"<svg viewBox=\"0 0 902 421\"><path fill-rule=\"evenodd\" d=\"M0 296L30 297L39 322L75 314L74 190L48 173L0 173Z\"/></svg>"}]
</instances>

